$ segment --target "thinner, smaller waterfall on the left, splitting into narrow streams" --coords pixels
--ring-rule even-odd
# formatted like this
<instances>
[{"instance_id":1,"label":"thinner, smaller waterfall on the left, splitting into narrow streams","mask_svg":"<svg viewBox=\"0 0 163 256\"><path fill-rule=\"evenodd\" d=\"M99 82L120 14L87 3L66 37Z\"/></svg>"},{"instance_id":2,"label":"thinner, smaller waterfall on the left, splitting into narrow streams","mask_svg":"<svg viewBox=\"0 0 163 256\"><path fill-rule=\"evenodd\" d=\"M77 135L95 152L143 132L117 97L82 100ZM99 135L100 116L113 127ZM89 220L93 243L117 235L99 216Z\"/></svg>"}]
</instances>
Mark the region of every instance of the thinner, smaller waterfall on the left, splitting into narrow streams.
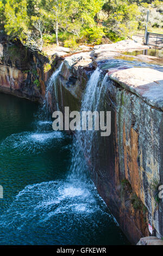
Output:
<instances>
[{"instance_id":1,"label":"thinner, smaller waterfall on the left, splitting into narrow streams","mask_svg":"<svg viewBox=\"0 0 163 256\"><path fill-rule=\"evenodd\" d=\"M56 78L61 71L62 65L63 65L63 62L60 64L59 68L54 71L54 73L51 76L51 78L49 79L47 87L46 87L45 100L43 101L43 109L45 109L45 111L46 111L46 119L48 119L48 106L49 106L48 97L49 97L49 94L52 93L53 85L54 85L55 100L57 101L57 110L59 109Z\"/></svg>"}]
</instances>

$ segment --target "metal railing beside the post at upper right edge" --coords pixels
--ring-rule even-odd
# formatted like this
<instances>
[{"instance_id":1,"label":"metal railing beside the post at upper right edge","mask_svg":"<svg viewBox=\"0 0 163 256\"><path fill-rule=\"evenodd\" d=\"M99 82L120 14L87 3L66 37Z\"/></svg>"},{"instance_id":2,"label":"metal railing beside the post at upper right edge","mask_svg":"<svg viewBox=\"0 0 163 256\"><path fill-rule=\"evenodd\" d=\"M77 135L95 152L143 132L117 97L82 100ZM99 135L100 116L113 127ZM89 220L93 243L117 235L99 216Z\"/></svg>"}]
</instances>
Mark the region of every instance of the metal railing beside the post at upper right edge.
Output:
<instances>
[{"instance_id":1,"label":"metal railing beside the post at upper right edge","mask_svg":"<svg viewBox=\"0 0 163 256\"><path fill-rule=\"evenodd\" d=\"M163 48L163 34L156 34L146 31L145 40L146 45Z\"/></svg>"}]
</instances>

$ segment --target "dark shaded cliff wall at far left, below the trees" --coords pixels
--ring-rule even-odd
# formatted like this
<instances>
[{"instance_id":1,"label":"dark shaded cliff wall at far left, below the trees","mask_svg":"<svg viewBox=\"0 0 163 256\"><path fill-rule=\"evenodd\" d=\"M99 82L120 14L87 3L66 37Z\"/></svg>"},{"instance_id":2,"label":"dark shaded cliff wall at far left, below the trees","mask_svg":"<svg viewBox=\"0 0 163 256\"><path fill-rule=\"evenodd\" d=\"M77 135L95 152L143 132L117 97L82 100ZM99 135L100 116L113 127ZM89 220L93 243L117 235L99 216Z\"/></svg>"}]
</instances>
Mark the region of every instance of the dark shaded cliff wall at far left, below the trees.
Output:
<instances>
[{"instance_id":1,"label":"dark shaded cliff wall at far left, below the trees","mask_svg":"<svg viewBox=\"0 0 163 256\"><path fill-rule=\"evenodd\" d=\"M3 40L0 52L0 92L41 101L45 95L46 83L53 69L43 72L47 57L30 52L19 42Z\"/></svg>"}]
</instances>

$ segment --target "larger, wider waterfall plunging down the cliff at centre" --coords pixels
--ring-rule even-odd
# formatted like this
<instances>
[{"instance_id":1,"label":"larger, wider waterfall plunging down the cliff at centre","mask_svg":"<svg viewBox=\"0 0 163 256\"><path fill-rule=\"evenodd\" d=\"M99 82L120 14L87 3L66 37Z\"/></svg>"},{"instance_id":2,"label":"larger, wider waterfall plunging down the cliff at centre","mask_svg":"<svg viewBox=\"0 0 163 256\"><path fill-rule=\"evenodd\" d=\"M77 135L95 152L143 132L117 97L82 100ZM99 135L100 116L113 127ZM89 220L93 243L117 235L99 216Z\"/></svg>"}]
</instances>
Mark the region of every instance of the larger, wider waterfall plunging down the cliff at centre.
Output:
<instances>
[{"instance_id":1,"label":"larger, wider waterfall plunging down the cliff at centre","mask_svg":"<svg viewBox=\"0 0 163 256\"><path fill-rule=\"evenodd\" d=\"M97 68L91 75L90 80L87 82L80 109L81 116L82 111L98 111L100 102L104 102L108 74L105 75L102 82L100 79L101 75L101 70ZM85 180L87 178L87 166L92 167L92 145L96 142L98 143L97 133L98 131L95 130L76 131L73 138L72 166L70 169L69 179L76 177L76 179ZM96 156L98 157L98 147L96 147Z\"/></svg>"}]
</instances>

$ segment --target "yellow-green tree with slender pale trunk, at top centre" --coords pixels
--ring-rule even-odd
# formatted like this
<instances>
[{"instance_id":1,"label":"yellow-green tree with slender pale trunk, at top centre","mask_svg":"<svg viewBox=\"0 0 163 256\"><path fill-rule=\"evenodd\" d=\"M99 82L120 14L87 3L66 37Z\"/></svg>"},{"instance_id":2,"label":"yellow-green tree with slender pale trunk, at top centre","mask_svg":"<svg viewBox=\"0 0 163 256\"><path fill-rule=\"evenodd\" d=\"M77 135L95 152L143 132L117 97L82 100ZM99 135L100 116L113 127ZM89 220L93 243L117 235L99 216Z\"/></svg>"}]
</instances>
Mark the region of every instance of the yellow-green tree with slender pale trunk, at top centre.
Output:
<instances>
[{"instance_id":1,"label":"yellow-green tree with slender pale trunk, at top centre","mask_svg":"<svg viewBox=\"0 0 163 256\"><path fill-rule=\"evenodd\" d=\"M94 17L103 3L103 0L42 0L40 13L52 25L59 45L58 31L79 37L81 29L95 26Z\"/></svg>"}]
</instances>

